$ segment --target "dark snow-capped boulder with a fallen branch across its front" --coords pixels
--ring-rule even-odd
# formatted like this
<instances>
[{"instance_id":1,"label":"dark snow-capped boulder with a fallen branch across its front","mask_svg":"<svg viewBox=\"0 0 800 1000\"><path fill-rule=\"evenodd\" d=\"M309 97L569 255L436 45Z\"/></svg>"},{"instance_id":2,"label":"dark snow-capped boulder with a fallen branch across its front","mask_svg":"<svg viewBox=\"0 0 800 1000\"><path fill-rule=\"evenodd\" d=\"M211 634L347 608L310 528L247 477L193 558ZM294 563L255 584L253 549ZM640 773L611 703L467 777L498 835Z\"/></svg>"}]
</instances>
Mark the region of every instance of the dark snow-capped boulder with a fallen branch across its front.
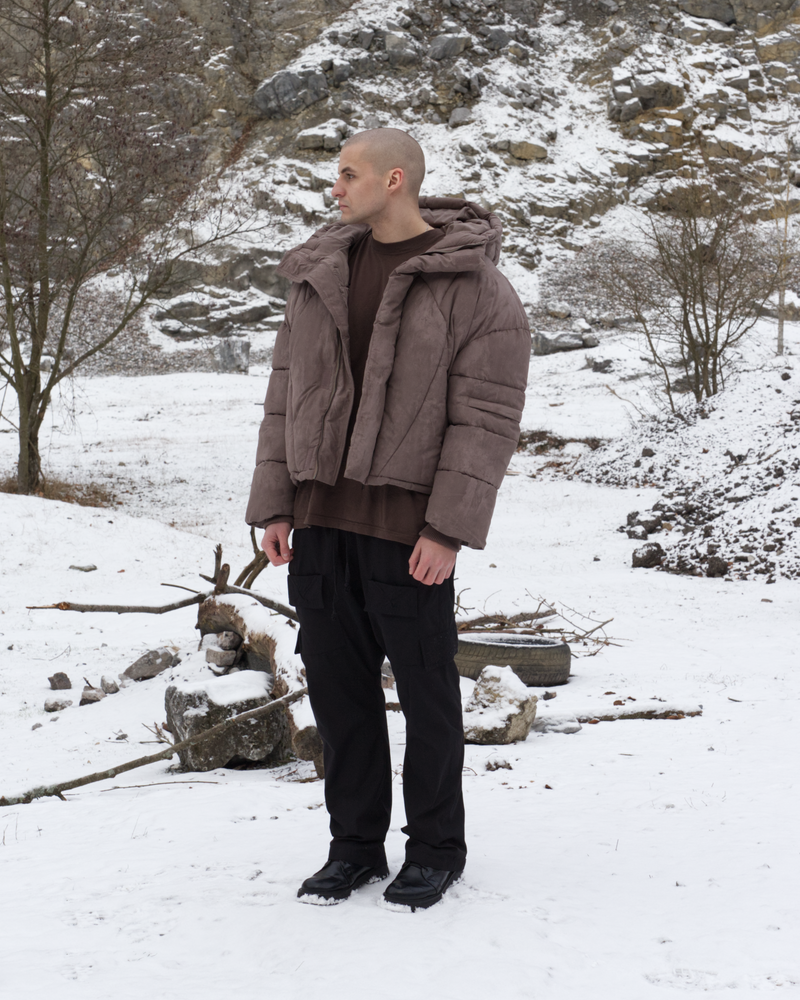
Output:
<instances>
[{"instance_id":1,"label":"dark snow-capped boulder with a fallen branch across its front","mask_svg":"<svg viewBox=\"0 0 800 1000\"><path fill-rule=\"evenodd\" d=\"M269 678L256 670L172 684L164 697L170 731L176 740L195 736L234 715L266 705L271 700L269 688ZM232 761L280 758L290 747L286 715L275 711L231 726L218 736L180 751L180 759L188 770L211 771Z\"/></svg>"}]
</instances>

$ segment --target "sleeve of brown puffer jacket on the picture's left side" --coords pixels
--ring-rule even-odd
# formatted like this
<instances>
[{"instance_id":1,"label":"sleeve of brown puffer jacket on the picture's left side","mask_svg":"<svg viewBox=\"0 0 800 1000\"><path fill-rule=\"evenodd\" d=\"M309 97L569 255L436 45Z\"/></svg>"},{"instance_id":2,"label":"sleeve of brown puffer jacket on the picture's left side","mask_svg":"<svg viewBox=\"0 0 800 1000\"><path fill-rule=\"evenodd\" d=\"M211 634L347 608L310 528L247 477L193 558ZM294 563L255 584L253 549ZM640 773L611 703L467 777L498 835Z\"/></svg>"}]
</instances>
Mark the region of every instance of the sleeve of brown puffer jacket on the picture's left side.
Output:
<instances>
[{"instance_id":1,"label":"sleeve of brown puffer jacket on the picture's left side","mask_svg":"<svg viewBox=\"0 0 800 1000\"><path fill-rule=\"evenodd\" d=\"M293 284L286 304L283 323L278 328L272 352L272 372L264 399L264 418L258 432L256 468L250 486L245 521L256 528L284 516L292 520L297 487L286 464L286 397L289 388L289 339L292 317L300 293Z\"/></svg>"}]
</instances>

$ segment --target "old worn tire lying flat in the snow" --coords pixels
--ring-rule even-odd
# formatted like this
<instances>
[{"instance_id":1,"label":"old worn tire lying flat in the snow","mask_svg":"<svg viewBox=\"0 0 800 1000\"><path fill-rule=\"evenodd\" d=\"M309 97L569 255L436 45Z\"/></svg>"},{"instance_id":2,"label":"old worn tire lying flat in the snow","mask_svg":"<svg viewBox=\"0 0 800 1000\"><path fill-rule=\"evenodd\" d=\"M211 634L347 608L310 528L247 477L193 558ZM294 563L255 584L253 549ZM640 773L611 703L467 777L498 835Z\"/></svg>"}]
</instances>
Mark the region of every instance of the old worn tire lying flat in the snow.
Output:
<instances>
[{"instance_id":1,"label":"old worn tire lying flat in the snow","mask_svg":"<svg viewBox=\"0 0 800 1000\"><path fill-rule=\"evenodd\" d=\"M566 684L572 653L560 639L509 633L462 633L456 666L462 677L477 680L484 667L511 667L528 687Z\"/></svg>"}]
</instances>

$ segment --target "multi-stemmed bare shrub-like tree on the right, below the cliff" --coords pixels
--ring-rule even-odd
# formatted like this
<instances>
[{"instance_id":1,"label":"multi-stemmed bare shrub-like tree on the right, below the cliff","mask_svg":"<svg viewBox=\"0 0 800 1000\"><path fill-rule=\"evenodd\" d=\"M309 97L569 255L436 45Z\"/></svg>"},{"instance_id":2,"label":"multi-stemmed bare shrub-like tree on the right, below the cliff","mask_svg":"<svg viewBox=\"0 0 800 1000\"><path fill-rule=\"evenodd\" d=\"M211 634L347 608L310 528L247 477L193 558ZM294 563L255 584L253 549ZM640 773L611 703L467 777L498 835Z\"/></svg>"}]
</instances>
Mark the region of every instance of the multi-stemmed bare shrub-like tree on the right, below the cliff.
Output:
<instances>
[{"instance_id":1,"label":"multi-stemmed bare shrub-like tree on the right, below the cliff","mask_svg":"<svg viewBox=\"0 0 800 1000\"><path fill-rule=\"evenodd\" d=\"M693 179L668 210L582 251L550 287L567 297L580 288L592 311L605 306L630 317L675 412L676 371L697 402L719 392L733 349L777 283L770 234L735 187Z\"/></svg>"}]
</instances>

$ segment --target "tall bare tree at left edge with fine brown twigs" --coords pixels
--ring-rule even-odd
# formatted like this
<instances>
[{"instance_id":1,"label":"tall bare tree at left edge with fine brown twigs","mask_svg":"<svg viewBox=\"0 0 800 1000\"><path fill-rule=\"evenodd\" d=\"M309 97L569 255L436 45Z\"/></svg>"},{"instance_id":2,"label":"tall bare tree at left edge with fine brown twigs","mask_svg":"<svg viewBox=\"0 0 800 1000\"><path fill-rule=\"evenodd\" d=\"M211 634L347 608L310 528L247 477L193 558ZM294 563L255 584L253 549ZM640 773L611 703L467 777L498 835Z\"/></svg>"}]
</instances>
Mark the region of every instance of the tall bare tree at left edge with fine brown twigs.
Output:
<instances>
[{"instance_id":1,"label":"tall bare tree at left edge with fine brown twigs","mask_svg":"<svg viewBox=\"0 0 800 1000\"><path fill-rule=\"evenodd\" d=\"M200 183L180 96L192 59L170 0L0 0L0 379L17 395L20 493L42 477L55 387L182 257L247 228Z\"/></svg>"}]
</instances>

